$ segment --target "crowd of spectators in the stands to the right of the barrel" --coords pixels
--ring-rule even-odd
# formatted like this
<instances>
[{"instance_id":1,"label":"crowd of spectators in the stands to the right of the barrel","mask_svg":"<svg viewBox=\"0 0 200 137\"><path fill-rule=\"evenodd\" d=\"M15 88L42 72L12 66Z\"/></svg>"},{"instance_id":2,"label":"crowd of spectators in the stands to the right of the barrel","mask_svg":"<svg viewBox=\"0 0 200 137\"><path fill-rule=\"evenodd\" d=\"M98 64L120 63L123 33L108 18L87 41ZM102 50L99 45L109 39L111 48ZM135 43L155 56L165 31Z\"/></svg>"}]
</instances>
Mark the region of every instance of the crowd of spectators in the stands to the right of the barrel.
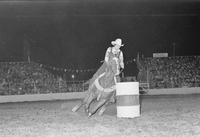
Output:
<instances>
[{"instance_id":1,"label":"crowd of spectators in the stands to the right of the barrel","mask_svg":"<svg viewBox=\"0 0 200 137\"><path fill-rule=\"evenodd\" d=\"M140 65L150 88L200 87L200 56L143 58Z\"/></svg>"}]
</instances>

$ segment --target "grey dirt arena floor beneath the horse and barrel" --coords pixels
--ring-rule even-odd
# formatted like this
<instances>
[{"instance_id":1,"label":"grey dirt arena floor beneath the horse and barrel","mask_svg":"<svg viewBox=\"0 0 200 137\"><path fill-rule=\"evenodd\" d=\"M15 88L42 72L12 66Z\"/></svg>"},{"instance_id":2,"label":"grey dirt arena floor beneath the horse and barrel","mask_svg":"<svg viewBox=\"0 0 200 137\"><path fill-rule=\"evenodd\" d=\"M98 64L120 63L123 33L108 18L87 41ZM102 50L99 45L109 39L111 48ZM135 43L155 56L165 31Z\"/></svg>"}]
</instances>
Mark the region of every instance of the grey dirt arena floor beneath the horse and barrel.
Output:
<instances>
[{"instance_id":1,"label":"grey dirt arena floor beneath the horse and barrel","mask_svg":"<svg viewBox=\"0 0 200 137\"><path fill-rule=\"evenodd\" d=\"M80 100L0 104L0 137L200 137L200 95L141 96L141 116L116 106L87 118Z\"/></svg>"}]
</instances>

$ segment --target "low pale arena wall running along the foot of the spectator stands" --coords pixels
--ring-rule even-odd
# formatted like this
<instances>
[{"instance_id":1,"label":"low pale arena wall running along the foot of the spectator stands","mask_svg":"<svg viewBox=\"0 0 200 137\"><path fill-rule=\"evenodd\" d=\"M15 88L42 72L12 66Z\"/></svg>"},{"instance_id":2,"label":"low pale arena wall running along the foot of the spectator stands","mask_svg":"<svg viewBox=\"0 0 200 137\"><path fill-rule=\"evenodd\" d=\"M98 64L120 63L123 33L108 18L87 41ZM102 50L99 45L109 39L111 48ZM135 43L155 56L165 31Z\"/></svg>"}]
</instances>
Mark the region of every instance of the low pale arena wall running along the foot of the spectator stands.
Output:
<instances>
[{"instance_id":1,"label":"low pale arena wall running along the foot of the spectator stands","mask_svg":"<svg viewBox=\"0 0 200 137\"><path fill-rule=\"evenodd\" d=\"M2 95L0 103L82 99L86 92ZM200 87L149 89L146 95L200 94Z\"/></svg>"}]
</instances>

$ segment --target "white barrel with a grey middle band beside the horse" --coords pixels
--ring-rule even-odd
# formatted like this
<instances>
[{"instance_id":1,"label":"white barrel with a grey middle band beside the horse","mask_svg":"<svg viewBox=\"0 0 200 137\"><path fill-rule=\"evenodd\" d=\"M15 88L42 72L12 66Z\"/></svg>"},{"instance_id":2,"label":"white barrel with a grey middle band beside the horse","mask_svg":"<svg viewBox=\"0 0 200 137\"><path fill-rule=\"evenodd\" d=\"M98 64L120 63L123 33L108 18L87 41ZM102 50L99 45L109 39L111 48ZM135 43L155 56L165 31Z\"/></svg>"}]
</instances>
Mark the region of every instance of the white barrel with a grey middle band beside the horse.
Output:
<instances>
[{"instance_id":1,"label":"white barrel with a grey middle band beside the horse","mask_svg":"<svg viewBox=\"0 0 200 137\"><path fill-rule=\"evenodd\" d=\"M140 116L139 82L116 84L117 117L134 118Z\"/></svg>"}]
</instances>

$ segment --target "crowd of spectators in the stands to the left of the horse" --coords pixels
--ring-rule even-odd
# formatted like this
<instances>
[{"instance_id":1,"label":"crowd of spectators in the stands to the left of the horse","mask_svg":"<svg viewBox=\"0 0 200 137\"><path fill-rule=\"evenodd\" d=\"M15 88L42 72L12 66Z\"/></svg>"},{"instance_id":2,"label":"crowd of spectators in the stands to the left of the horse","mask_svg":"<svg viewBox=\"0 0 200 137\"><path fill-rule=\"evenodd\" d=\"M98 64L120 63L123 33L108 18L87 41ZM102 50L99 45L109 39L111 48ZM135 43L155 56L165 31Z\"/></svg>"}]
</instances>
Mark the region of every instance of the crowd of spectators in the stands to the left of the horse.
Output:
<instances>
[{"instance_id":1,"label":"crowd of spectators in the stands to the left of the horse","mask_svg":"<svg viewBox=\"0 0 200 137\"><path fill-rule=\"evenodd\" d=\"M38 63L1 62L0 95L78 92L82 82L67 82Z\"/></svg>"}]
</instances>

